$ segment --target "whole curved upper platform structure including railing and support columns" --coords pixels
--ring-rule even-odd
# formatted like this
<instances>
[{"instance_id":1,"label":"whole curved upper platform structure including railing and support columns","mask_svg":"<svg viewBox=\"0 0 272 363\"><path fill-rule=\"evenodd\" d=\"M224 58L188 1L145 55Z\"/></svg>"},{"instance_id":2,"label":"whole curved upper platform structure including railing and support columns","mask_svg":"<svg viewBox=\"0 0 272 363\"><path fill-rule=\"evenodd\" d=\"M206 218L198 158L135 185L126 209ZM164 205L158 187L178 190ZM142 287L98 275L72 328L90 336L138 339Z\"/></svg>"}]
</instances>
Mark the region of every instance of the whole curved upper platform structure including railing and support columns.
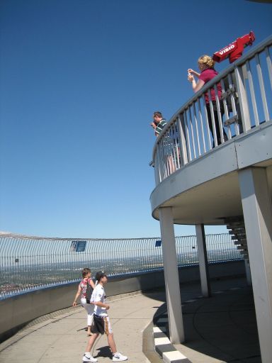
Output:
<instances>
[{"instance_id":1,"label":"whole curved upper platform structure including railing and support columns","mask_svg":"<svg viewBox=\"0 0 272 363\"><path fill-rule=\"evenodd\" d=\"M196 225L206 297L204 225L226 224L253 286L263 363L272 361L271 45L272 36L220 72L164 126L153 149L150 196L161 226L171 342L185 340L174 224Z\"/></svg>"}]
</instances>

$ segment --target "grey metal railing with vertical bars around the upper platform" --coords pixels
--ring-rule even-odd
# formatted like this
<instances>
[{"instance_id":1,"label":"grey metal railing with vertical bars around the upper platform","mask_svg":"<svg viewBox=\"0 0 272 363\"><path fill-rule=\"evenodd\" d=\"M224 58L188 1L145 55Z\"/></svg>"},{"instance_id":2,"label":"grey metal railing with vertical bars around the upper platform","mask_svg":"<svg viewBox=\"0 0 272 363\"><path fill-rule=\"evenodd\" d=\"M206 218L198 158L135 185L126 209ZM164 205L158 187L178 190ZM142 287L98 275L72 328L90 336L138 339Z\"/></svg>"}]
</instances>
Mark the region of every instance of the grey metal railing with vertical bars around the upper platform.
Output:
<instances>
[{"instance_id":1,"label":"grey metal railing with vertical bars around the upper platform","mask_svg":"<svg viewBox=\"0 0 272 363\"><path fill-rule=\"evenodd\" d=\"M271 44L272 36L220 72L174 114L154 145L156 184L213 147L271 121Z\"/></svg>"}]
</instances>

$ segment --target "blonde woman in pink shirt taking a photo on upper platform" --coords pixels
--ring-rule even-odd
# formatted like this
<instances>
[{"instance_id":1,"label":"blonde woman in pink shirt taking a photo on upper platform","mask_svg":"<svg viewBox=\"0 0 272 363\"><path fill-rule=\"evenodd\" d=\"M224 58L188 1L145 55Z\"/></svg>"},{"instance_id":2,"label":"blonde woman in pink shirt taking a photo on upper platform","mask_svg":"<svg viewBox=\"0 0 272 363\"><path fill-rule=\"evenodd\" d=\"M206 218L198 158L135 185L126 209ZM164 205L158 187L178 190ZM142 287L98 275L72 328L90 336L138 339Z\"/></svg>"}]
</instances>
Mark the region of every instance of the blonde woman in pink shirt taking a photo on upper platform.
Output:
<instances>
[{"instance_id":1,"label":"blonde woman in pink shirt taking a photo on upper platform","mask_svg":"<svg viewBox=\"0 0 272 363\"><path fill-rule=\"evenodd\" d=\"M195 93L197 91L199 91L204 86L204 84L206 84L212 78L217 76L218 72L216 72L216 70L214 69L214 65L215 65L215 61L212 60L212 58L209 55L203 55L202 57L198 58L198 68L200 69L200 73L194 71L191 68L188 69L188 81L191 82L193 91ZM193 76L198 77L198 82L196 82L196 80ZM221 88L220 82L217 83L216 87L217 87L218 99L221 99L222 88ZM215 89L213 87L210 89L210 96L209 96L209 92L205 92L204 97L205 97L205 104L206 104L206 109L207 109L207 113L208 113L208 122L209 122L210 132L212 133L213 140L215 140L214 135L213 135L213 130L212 130L212 114L211 114L212 110L210 109L210 101L212 101L212 108L213 108L213 112L214 112L214 116L215 116L215 130L216 130L216 135L217 135L217 145L220 145L222 143L222 141L221 141L221 137L220 137L220 127L219 127L219 118L218 118L218 114L217 114ZM211 97L211 100L210 100L210 97ZM222 116L224 113L224 108L223 108L222 102L220 102L220 112L221 112L221 116ZM223 135L224 135L224 140L226 141L227 134L225 133L224 128L223 128ZM213 146L214 145L215 145L215 143L213 142Z\"/></svg>"}]
</instances>

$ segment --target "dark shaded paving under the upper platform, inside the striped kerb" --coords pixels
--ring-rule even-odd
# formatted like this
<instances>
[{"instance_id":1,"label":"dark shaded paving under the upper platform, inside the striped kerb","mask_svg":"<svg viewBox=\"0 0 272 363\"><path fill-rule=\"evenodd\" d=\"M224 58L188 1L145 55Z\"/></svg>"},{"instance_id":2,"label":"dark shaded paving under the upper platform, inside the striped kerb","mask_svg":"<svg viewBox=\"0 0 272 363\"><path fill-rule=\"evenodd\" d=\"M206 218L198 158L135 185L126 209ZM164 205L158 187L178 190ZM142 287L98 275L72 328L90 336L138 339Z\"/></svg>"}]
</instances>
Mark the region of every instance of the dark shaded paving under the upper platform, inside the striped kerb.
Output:
<instances>
[{"instance_id":1,"label":"dark shaded paving under the upper platform, inside the striped kerb","mask_svg":"<svg viewBox=\"0 0 272 363\"><path fill-rule=\"evenodd\" d=\"M174 347L193 363L261 363L251 287L245 279L212 281L211 286L210 298L199 298L198 285L181 286L186 342Z\"/></svg>"}]
</instances>

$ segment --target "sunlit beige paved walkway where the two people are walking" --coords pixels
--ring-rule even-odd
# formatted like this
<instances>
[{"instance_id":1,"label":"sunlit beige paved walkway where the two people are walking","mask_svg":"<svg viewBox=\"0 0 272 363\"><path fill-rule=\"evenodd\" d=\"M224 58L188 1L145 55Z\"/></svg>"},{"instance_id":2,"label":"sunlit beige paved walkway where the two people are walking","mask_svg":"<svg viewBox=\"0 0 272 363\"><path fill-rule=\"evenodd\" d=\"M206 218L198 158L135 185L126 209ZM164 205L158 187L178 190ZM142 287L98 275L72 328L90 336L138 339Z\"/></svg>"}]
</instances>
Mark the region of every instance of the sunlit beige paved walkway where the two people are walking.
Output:
<instances>
[{"instance_id":1,"label":"sunlit beige paved walkway where the two people are walking","mask_svg":"<svg viewBox=\"0 0 272 363\"><path fill-rule=\"evenodd\" d=\"M132 363L148 362L142 352L142 333L157 308L164 303L160 300L161 296L157 293L137 294L109 301L117 348L128 355ZM88 340L83 329L85 326L86 312L81 307L33 325L0 345L0 362L82 362ZM92 354L98 358L98 362L111 362L105 336L96 340Z\"/></svg>"}]
</instances>

